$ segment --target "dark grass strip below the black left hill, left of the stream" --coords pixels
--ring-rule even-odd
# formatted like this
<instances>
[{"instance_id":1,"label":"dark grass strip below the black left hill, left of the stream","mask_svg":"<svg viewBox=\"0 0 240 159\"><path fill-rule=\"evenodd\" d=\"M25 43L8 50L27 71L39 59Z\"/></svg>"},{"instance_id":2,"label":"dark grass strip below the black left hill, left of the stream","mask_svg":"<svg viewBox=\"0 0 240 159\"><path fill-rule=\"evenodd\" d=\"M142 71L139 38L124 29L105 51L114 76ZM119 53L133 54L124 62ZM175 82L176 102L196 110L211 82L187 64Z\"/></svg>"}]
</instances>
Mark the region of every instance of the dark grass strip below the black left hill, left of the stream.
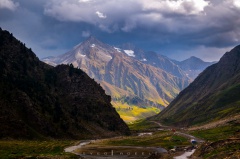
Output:
<instances>
[{"instance_id":1,"label":"dark grass strip below the black left hill, left of the stream","mask_svg":"<svg viewBox=\"0 0 240 159\"><path fill-rule=\"evenodd\" d=\"M76 155L65 153L64 148L76 144L76 141L29 141L0 140L0 158L44 158L44 159L75 159Z\"/></svg>"}]
</instances>

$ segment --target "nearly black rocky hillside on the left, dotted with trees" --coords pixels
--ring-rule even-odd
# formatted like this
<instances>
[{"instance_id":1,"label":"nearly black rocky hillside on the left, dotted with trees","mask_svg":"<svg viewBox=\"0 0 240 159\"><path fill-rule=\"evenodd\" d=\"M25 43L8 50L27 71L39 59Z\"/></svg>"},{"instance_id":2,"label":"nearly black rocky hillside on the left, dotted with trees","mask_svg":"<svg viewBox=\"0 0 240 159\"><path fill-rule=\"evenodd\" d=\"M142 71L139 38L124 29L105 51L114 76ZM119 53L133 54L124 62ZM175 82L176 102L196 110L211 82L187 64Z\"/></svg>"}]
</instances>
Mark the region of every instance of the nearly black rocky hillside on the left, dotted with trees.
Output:
<instances>
[{"instance_id":1,"label":"nearly black rocky hillside on the left, dotted with trees","mask_svg":"<svg viewBox=\"0 0 240 159\"><path fill-rule=\"evenodd\" d=\"M80 69L41 62L0 29L0 138L95 138L128 134L111 97Z\"/></svg>"}]
</instances>

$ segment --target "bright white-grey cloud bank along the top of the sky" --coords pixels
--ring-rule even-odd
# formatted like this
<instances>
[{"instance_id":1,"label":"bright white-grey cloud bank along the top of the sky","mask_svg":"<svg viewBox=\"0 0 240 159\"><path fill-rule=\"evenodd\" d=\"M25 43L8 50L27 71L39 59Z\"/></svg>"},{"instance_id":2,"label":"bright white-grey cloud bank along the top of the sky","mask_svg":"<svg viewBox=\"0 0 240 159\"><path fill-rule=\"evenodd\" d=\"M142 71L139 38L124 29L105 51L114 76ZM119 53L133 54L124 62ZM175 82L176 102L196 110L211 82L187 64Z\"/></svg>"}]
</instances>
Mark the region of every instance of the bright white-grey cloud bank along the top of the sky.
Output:
<instances>
[{"instance_id":1,"label":"bright white-grey cloud bank along the top of the sky","mask_svg":"<svg viewBox=\"0 0 240 159\"><path fill-rule=\"evenodd\" d=\"M119 30L129 32L138 25L158 25L162 17L197 16L209 4L206 0L50 0L44 12L60 21L87 22L108 32L118 25Z\"/></svg>"}]
</instances>

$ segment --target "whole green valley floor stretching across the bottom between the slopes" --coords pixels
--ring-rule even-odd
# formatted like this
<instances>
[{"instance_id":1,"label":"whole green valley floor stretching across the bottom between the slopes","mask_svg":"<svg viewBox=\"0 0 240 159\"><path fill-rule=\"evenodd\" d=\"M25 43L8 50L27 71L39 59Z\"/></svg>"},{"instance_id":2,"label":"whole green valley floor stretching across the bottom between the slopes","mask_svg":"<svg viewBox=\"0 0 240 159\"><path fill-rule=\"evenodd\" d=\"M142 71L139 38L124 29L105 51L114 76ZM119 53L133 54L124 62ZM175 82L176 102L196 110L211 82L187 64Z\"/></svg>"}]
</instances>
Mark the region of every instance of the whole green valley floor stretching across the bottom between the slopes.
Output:
<instances>
[{"instance_id":1,"label":"whole green valley floor stretching across the bottom between the slopes","mask_svg":"<svg viewBox=\"0 0 240 159\"><path fill-rule=\"evenodd\" d=\"M239 123L239 115L234 118L225 118L220 123L209 123L210 127L207 124L184 129L145 121L143 124L145 128L140 128L139 123L138 125L130 125L131 136L81 141L1 140L2 153L0 153L0 158L74 159L79 158L80 155L86 159L106 157L109 159L173 159L182 154L190 153L190 149L192 149L190 139L195 139L198 142L198 148L192 154L192 158L220 159L223 158L222 156L235 156L237 158L240 146ZM172 129L176 131L173 132ZM141 133L143 135L140 136ZM75 146L69 147L68 145Z\"/></svg>"}]
</instances>

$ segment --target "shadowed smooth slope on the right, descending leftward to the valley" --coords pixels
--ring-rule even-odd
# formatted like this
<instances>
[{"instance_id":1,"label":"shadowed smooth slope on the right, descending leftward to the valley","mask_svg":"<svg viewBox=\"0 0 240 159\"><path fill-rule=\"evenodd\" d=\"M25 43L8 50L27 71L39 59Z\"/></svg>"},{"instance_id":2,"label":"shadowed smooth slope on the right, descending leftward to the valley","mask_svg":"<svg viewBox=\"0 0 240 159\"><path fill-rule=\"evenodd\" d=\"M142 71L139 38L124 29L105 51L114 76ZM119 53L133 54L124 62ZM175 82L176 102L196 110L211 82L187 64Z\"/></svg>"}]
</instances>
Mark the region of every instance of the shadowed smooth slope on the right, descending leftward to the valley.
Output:
<instances>
[{"instance_id":1,"label":"shadowed smooth slope on the right, descending leftward to the valley","mask_svg":"<svg viewBox=\"0 0 240 159\"><path fill-rule=\"evenodd\" d=\"M194 125L240 113L240 45L203 71L160 114L165 124Z\"/></svg>"}]
</instances>

